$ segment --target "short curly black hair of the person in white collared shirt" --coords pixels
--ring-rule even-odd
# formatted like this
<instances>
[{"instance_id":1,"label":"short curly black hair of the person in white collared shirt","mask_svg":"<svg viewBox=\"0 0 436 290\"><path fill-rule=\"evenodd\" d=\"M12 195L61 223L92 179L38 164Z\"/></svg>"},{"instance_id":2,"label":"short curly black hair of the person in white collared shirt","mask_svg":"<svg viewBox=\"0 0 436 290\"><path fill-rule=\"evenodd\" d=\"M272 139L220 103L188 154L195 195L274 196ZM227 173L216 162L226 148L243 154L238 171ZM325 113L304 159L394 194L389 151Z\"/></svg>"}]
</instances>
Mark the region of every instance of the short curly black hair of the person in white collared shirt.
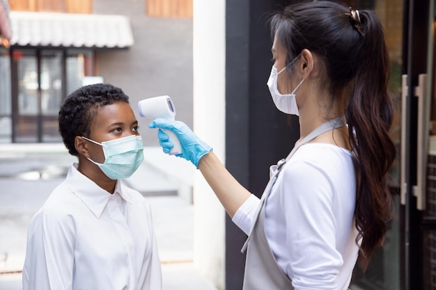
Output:
<instances>
[{"instance_id":1,"label":"short curly black hair of the person in white collared shirt","mask_svg":"<svg viewBox=\"0 0 436 290\"><path fill-rule=\"evenodd\" d=\"M90 135L90 125L96 109L116 102L129 104L129 97L123 90L109 83L83 86L68 95L59 110L58 121L59 133L71 155L79 156L75 148L75 137Z\"/></svg>"}]
</instances>

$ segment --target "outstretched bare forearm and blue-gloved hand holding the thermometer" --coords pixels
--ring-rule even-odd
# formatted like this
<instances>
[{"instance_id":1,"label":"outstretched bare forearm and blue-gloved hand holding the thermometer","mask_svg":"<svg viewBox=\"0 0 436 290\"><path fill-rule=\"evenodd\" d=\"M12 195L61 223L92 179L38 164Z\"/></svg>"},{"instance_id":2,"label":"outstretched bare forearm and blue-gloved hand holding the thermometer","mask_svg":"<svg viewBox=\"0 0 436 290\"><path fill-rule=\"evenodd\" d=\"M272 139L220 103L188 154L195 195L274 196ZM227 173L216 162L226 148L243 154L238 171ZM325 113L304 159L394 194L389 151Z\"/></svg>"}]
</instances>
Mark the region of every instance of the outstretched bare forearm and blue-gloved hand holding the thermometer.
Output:
<instances>
[{"instance_id":1,"label":"outstretched bare forearm and blue-gloved hand holding the thermometer","mask_svg":"<svg viewBox=\"0 0 436 290\"><path fill-rule=\"evenodd\" d=\"M212 147L200 140L186 124L180 121L157 118L150 123L149 127L169 129L178 136L182 154L177 156L191 161L200 170L229 216L233 217L242 203L251 196L251 193L219 161L212 152ZM168 136L159 130L158 138L164 152L168 153L173 147Z\"/></svg>"}]
</instances>

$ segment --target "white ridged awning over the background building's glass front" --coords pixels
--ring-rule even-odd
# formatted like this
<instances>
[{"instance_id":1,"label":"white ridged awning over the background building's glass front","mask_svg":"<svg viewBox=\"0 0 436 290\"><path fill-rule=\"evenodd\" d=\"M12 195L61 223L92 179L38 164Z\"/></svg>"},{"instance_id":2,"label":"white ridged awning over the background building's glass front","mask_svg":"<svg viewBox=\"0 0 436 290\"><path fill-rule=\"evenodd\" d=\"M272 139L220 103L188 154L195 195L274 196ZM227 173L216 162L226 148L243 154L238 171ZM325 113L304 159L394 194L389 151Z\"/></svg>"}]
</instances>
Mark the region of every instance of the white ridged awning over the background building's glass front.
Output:
<instances>
[{"instance_id":1,"label":"white ridged awning over the background building's glass front","mask_svg":"<svg viewBox=\"0 0 436 290\"><path fill-rule=\"evenodd\" d=\"M133 45L123 15L10 11L11 46L127 48Z\"/></svg>"}]
</instances>

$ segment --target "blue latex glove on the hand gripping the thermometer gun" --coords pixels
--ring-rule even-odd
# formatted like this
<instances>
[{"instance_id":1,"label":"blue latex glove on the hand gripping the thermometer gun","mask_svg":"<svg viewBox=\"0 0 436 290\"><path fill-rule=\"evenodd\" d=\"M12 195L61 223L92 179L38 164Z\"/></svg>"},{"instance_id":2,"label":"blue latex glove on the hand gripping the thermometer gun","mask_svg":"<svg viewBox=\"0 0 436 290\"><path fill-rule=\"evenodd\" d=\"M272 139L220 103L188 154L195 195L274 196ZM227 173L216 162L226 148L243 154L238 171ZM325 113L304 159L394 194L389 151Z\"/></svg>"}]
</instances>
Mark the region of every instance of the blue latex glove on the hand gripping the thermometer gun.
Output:
<instances>
[{"instance_id":1,"label":"blue latex glove on the hand gripping the thermometer gun","mask_svg":"<svg viewBox=\"0 0 436 290\"><path fill-rule=\"evenodd\" d=\"M162 146L165 153L170 152L173 143L169 141L168 135L160 129L169 129L173 131L182 147L182 154L177 154L176 156L191 161L196 168L198 168L198 161L200 161L201 157L212 150L212 147L200 140L184 122L157 118L153 120L148 127L159 128L159 131L157 131L157 138L159 138L159 145Z\"/></svg>"}]
</instances>

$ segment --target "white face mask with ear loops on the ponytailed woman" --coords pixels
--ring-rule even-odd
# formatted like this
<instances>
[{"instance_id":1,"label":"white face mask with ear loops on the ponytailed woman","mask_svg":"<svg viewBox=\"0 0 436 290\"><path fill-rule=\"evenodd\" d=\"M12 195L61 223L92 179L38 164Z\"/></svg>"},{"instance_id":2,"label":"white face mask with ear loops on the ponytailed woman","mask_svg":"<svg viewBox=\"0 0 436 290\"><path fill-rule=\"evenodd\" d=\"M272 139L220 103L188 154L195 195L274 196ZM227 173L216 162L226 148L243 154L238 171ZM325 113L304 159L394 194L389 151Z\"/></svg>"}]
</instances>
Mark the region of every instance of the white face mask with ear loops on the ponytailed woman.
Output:
<instances>
[{"instance_id":1,"label":"white face mask with ear loops on the ponytailed woman","mask_svg":"<svg viewBox=\"0 0 436 290\"><path fill-rule=\"evenodd\" d=\"M291 61L286 67L292 65L297 58L299 58L299 55L294 58L293 61ZM283 67L280 72L277 72L277 68L272 65L270 79L267 81L267 86L270 89L272 101L276 105L276 107L279 109L279 111L282 111L283 113L290 114L290 115L299 115L298 114L298 106L297 106L297 100L295 99L295 91L301 84L303 83L304 79L302 79L298 85L295 87L293 92L290 94L282 95L279 92L279 89L277 89L277 77L283 70L286 70L286 67ZM312 63L312 69L313 69L313 63Z\"/></svg>"}]
</instances>

